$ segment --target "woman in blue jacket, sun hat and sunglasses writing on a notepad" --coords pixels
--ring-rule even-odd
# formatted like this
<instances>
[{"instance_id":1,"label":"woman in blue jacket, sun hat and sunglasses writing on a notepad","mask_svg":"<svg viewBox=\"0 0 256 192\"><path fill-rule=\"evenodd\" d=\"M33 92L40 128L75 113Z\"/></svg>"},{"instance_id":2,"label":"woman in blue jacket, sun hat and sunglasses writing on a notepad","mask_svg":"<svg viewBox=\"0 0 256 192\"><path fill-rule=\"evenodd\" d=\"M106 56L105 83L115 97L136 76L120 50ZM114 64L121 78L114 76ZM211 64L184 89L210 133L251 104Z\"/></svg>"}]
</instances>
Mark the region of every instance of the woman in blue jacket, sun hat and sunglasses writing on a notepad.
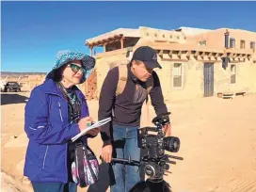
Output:
<instances>
[{"instance_id":1,"label":"woman in blue jacket, sun hat and sunglasses writing on a notepad","mask_svg":"<svg viewBox=\"0 0 256 192\"><path fill-rule=\"evenodd\" d=\"M59 52L56 66L45 81L31 91L25 105L24 131L29 138L24 175L36 192L76 191L72 181L72 161L76 136L91 122L83 93L75 86L84 83L95 59L79 52ZM80 137L97 136L93 129Z\"/></svg>"}]
</instances>

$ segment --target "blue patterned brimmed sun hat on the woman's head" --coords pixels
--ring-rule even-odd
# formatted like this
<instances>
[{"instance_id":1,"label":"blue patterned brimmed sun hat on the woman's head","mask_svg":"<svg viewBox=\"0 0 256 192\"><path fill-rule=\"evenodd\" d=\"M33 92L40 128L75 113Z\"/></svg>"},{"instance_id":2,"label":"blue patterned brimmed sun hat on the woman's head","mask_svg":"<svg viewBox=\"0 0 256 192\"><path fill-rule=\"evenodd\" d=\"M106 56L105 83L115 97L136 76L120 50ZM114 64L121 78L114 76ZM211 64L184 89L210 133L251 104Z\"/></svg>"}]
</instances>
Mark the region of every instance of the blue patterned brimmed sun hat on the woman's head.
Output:
<instances>
[{"instance_id":1,"label":"blue patterned brimmed sun hat on the woman's head","mask_svg":"<svg viewBox=\"0 0 256 192\"><path fill-rule=\"evenodd\" d=\"M81 60L82 68L84 69L83 76L80 83L84 83L90 72L95 66L95 58L92 56L87 56L81 52L75 52L70 50L59 51L56 55L56 65L53 67L52 71L46 75L47 79L51 79L54 77L54 72L62 67L63 65L73 61L73 60Z\"/></svg>"}]
</instances>

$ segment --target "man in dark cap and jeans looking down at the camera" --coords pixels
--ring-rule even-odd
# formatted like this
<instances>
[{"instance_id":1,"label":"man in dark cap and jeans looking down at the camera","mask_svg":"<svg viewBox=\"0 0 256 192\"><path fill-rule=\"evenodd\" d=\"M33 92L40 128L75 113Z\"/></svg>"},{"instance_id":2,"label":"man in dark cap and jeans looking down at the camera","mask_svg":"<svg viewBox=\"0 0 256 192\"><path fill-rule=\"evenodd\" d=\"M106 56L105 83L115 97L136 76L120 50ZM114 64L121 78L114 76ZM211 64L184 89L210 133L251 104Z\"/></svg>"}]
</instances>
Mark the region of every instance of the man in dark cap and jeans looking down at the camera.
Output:
<instances>
[{"instance_id":1,"label":"man in dark cap and jeans looking down at the camera","mask_svg":"<svg viewBox=\"0 0 256 192\"><path fill-rule=\"evenodd\" d=\"M125 88L116 96L119 83L118 67L110 70L105 79L100 94L99 120L112 117L112 123L102 126L101 136L104 141L102 157L106 163L111 161L112 151L117 158L139 160L140 149L137 146L137 129L140 125L142 104L148 96L147 82L152 79L150 96L152 105L157 115L168 112L162 89L154 68L160 68L155 51L148 46L136 49L131 62L127 65L127 81ZM113 136L111 136L113 131ZM164 132L170 135L169 124L164 127ZM140 181L139 170L136 166L125 167L123 179L123 165L113 165L115 182L111 185L111 192L128 192Z\"/></svg>"}]
</instances>

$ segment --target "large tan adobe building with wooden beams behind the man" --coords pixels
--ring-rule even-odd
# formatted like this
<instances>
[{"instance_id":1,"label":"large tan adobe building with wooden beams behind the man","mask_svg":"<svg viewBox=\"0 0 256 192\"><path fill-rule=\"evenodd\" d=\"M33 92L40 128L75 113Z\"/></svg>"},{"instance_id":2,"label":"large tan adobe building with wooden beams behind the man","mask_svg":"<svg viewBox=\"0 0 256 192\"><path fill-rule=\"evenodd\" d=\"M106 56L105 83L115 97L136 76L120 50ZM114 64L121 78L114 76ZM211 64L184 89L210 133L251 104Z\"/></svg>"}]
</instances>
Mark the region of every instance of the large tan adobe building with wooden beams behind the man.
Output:
<instances>
[{"instance_id":1,"label":"large tan adobe building with wooden beams behind the man","mask_svg":"<svg viewBox=\"0 0 256 192\"><path fill-rule=\"evenodd\" d=\"M156 50L163 69L156 69L168 101L216 96L219 93L256 92L256 33L240 29L207 30L181 27L162 30L140 26L119 28L86 40L97 60L90 95L99 97L104 77L113 62L128 63L137 47Z\"/></svg>"}]
</instances>

